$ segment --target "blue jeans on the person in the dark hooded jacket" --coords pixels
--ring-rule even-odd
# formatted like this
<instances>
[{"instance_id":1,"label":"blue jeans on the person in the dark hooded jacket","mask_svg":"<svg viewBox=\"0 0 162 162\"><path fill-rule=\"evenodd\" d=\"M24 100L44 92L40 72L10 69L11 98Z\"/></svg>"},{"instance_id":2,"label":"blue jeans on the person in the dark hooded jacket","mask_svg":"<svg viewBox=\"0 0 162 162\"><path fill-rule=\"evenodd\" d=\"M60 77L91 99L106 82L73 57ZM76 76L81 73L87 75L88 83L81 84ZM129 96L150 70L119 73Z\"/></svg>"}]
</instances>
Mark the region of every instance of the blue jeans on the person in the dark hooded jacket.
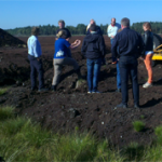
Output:
<instances>
[{"instance_id":1,"label":"blue jeans on the person in the dark hooded jacket","mask_svg":"<svg viewBox=\"0 0 162 162\"><path fill-rule=\"evenodd\" d=\"M90 92L96 92L97 91L100 65L102 65L102 58L86 59L87 85L89 85L89 91Z\"/></svg>"}]
</instances>

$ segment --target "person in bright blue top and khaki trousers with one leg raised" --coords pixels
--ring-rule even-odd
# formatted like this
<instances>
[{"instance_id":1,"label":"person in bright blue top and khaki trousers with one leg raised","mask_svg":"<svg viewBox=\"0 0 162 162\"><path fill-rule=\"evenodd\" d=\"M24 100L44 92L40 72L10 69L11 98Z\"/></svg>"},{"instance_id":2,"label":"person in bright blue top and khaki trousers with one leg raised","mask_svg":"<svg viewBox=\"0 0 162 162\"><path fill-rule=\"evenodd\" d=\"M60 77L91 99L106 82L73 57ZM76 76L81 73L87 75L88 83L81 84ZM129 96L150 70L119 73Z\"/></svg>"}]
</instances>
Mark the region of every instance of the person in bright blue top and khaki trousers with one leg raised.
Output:
<instances>
[{"instance_id":1,"label":"person in bright blue top and khaki trousers with one leg raised","mask_svg":"<svg viewBox=\"0 0 162 162\"><path fill-rule=\"evenodd\" d=\"M78 75L78 79L82 79L78 63L76 62L76 59L68 57L68 49L76 49L80 45L81 41L76 40L73 43L70 44L69 38L67 38L67 33L65 30L60 30L56 35L56 37L58 39L55 41L55 53L53 58L54 77L52 81L52 91L56 91L56 86L59 83L62 68L64 65L73 66Z\"/></svg>"}]
</instances>

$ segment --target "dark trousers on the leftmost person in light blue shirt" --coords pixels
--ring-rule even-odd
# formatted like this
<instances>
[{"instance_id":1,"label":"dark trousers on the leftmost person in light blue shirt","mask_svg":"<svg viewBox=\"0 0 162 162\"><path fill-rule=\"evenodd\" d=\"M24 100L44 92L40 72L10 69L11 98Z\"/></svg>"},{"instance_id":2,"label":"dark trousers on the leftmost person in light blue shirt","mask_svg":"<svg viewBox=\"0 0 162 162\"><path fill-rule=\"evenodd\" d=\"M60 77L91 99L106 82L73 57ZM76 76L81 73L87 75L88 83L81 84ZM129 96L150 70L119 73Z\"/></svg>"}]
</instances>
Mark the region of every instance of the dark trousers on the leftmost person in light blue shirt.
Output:
<instances>
[{"instance_id":1,"label":"dark trousers on the leftmost person in light blue shirt","mask_svg":"<svg viewBox=\"0 0 162 162\"><path fill-rule=\"evenodd\" d=\"M31 79L31 87L35 89L37 85L37 72L39 75L39 89L44 86L44 78L43 78L43 65L42 60L38 60L36 57L28 55L28 59L30 60L30 79Z\"/></svg>"}]
</instances>

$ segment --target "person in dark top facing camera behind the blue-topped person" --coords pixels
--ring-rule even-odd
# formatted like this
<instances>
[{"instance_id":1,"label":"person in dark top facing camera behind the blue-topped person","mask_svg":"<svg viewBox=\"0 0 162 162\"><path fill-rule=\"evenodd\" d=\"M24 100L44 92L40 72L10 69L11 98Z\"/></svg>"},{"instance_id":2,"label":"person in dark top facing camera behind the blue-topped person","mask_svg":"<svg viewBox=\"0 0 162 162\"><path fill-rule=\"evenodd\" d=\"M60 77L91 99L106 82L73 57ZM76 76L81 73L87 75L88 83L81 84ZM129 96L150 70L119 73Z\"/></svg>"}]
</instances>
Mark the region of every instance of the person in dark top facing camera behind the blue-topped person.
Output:
<instances>
[{"instance_id":1,"label":"person in dark top facing camera behind the blue-topped person","mask_svg":"<svg viewBox=\"0 0 162 162\"><path fill-rule=\"evenodd\" d=\"M59 26L59 28L56 31L56 40L58 39L57 33L60 30L65 31L65 39L71 38L71 32L68 30L68 28L65 27L65 22L63 19L58 21L58 26ZM70 49L67 50L67 56L71 57L71 50Z\"/></svg>"}]
</instances>

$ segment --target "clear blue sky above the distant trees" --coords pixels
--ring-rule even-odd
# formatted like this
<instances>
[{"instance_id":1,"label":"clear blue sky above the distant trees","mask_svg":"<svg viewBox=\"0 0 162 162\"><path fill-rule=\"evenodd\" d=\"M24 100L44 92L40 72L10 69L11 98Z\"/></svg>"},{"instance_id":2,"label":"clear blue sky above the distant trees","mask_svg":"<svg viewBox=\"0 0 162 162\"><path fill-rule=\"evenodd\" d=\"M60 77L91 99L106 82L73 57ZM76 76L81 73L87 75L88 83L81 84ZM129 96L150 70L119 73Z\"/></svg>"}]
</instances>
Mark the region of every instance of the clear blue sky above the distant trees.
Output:
<instances>
[{"instance_id":1,"label":"clear blue sky above the distant trees","mask_svg":"<svg viewBox=\"0 0 162 162\"><path fill-rule=\"evenodd\" d=\"M110 24L123 17L137 22L162 22L162 0L0 0L0 28L90 23Z\"/></svg>"}]
</instances>

